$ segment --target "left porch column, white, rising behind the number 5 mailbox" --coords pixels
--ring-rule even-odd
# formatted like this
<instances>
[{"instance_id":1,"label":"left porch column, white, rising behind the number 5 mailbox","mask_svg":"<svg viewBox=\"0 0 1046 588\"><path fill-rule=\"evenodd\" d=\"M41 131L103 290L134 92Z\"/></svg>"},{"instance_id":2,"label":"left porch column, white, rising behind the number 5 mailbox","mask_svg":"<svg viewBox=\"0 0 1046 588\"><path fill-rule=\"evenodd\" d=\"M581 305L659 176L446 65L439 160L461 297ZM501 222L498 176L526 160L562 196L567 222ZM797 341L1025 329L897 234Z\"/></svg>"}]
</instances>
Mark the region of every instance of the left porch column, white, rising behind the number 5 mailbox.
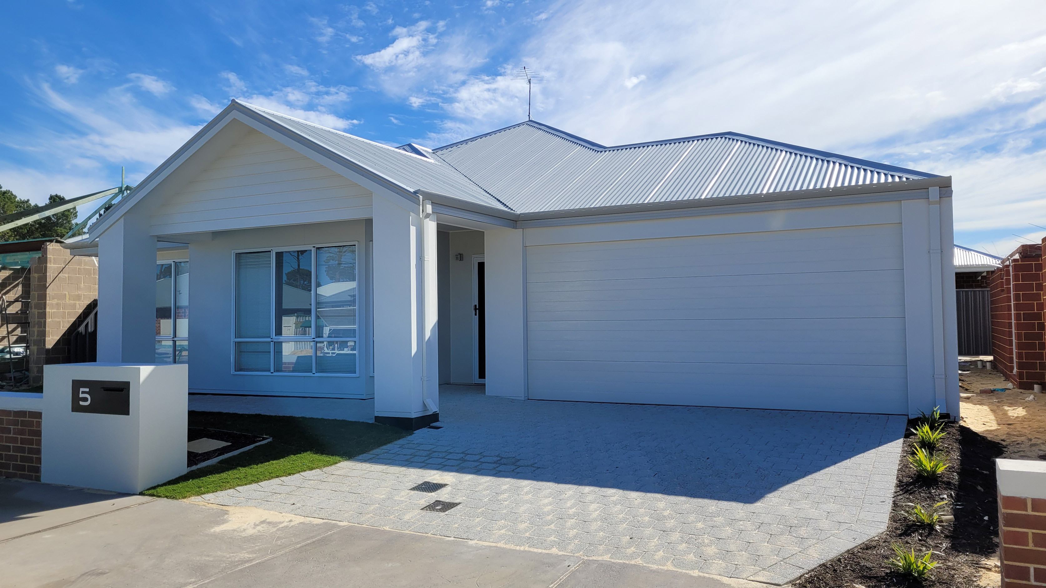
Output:
<instances>
[{"instance_id":1,"label":"left porch column, white, rising behind the number 5 mailbox","mask_svg":"<svg viewBox=\"0 0 1046 588\"><path fill-rule=\"evenodd\" d=\"M98 237L98 361L156 361L156 237L132 214Z\"/></svg>"}]
</instances>

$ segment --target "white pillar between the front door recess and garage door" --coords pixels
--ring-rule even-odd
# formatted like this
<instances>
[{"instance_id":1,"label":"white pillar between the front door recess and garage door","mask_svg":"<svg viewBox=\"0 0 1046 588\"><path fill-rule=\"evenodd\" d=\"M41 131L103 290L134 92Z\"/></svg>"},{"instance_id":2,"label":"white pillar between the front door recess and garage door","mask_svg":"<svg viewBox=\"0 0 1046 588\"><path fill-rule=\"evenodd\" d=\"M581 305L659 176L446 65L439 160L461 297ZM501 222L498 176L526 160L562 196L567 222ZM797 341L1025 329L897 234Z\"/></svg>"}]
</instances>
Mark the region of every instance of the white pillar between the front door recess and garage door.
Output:
<instances>
[{"instance_id":1,"label":"white pillar between the front door recess and garage door","mask_svg":"<svg viewBox=\"0 0 1046 588\"><path fill-rule=\"evenodd\" d=\"M526 255L523 231L484 232L486 394L526 398Z\"/></svg>"}]
</instances>

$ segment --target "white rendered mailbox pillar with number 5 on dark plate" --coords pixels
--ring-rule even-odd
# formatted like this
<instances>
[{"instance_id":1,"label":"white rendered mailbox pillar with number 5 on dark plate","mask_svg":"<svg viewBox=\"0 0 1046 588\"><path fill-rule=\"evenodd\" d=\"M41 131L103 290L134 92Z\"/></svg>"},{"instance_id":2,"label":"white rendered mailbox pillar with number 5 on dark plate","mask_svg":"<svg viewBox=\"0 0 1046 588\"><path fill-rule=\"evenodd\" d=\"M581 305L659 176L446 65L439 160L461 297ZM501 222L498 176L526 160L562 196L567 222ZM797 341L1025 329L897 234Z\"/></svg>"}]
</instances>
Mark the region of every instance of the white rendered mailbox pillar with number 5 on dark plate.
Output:
<instances>
[{"instance_id":1,"label":"white rendered mailbox pillar with number 5 on dark plate","mask_svg":"<svg viewBox=\"0 0 1046 588\"><path fill-rule=\"evenodd\" d=\"M188 366L44 366L41 481L137 494L185 473Z\"/></svg>"}]
</instances>

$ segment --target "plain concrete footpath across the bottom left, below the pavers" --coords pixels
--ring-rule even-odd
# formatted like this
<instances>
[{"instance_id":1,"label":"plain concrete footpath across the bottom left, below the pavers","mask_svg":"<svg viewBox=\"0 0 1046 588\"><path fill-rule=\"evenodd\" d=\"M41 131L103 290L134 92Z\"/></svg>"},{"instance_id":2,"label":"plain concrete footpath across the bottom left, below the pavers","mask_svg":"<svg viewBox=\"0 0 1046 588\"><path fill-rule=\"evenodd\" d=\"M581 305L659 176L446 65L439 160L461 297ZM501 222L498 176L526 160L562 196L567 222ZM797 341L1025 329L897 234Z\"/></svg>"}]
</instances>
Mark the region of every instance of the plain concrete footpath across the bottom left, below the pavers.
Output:
<instances>
[{"instance_id":1,"label":"plain concrete footpath across the bottom left, below the pavers","mask_svg":"<svg viewBox=\"0 0 1046 588\"><path fill-rule=\"evenodd\" d=\"M0 478L0 587L743 588L743 580Z\"/></svg>"}]
</instances>

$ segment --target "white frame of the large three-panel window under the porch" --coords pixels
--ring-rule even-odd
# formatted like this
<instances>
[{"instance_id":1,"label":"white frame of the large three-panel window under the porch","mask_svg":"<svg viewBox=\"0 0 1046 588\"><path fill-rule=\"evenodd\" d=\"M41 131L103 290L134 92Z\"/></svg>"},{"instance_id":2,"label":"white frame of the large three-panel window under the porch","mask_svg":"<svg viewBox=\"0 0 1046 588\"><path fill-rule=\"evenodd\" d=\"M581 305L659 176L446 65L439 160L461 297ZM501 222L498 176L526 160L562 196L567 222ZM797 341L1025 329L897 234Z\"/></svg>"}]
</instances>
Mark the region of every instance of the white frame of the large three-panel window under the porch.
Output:
<instances>
[{"instance_id":1,"label":"white frame of the large three-panel window under the porch","mask_svg":"<svg viewBox=\"0 0 1046 588\"><path fill-rule=\"evenodd\" d=\"M319 255L317 255L316 250L322 248L335 248L335 246L347 246L354 245L356 248L356 336L355 337L321 337L316 335L316 263L319 261ZM277 335L276 334L276 253L288 252L288 251L312 251L312 335ZM310 377L337 377L337 378L359 378L361 377L360 361L361 357L364 355L360 346L361 340L363 340L363 331L365 321L361 321L360 309L363 306L363 280L361 279L364 274L362 269L366 267L363 263L362 256L360 255L360 241L339 241L333 243L311 243L311 244L300 244L300 245L280 245L280 246L259 246L259 248L249 248L249 249L237 249L232 251L232 273L231 273L231 293L232 293L232 313L230 317L230 335L231 335L231 346L230 346L230 373L234 375L247 375L247 376L310 376ZM271 269L271 279L269 287L271 288L269 292L269 338L259 337L237 337L236 336L236 255L241 253L262 253L269 252L269 267ZM280 343L311 343L313 348L313 371L310 372L277 372L275 371L275 360L276 360L276 345ZM324 342L353 342L356 347L356 373L355 374L329 374L329 373L317 373L316 372L316 344ZM237 343L268 343L269 344L269 371L268 372L237 372L236 371L236 344Z\"/></svg>"}]
</instances>

